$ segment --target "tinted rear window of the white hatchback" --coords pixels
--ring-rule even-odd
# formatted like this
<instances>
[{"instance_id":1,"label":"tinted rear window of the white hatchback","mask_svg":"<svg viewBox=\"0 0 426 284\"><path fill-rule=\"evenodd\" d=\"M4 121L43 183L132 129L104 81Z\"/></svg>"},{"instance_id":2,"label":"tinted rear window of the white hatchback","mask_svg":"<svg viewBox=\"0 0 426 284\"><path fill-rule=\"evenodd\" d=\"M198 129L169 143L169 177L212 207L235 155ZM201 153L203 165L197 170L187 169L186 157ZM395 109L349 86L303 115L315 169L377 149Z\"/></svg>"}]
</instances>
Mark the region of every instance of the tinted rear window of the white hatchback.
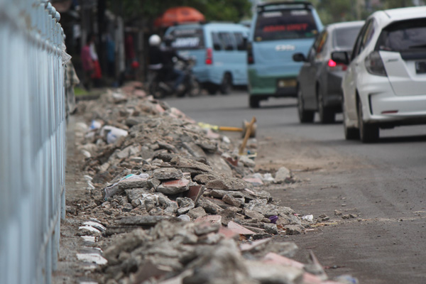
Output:
<instances>
[{"instance_id":1,"label":"tinted rear window of the white hatchback","mask_svg":"<svg viewBox=\"0 0 426 284\"><path fill-rule=\"evenodd\" d=\"M426 18L391 23L381 32L376 50L426 50Z\"/></svg>"}]
</instances>

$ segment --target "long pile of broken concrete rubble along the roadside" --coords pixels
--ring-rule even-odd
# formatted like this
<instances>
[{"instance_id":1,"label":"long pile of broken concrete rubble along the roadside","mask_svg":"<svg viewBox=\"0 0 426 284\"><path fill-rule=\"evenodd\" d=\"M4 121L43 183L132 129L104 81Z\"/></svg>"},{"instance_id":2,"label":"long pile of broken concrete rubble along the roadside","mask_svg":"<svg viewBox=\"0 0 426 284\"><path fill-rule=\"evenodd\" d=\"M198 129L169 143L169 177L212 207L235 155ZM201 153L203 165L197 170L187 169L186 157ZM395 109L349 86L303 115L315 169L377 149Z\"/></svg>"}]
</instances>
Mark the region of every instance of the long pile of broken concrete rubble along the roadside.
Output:
<instances>
[{"instance_id":1,"label":"long pile of broken concrete rubble along the roadside","mask_svg":"<svg viewBox=\"0 0 426 284\"><path fill-rule=\"evenodd\" d=\"M288 170L275 178L255 173L226 136L132 93L78 105L87 121L76 136L91 198L68 214L90 219L80 235L104 249L94 261L97 280L336 283L315 257L307 265L288 258L297 246L282 236L300 234L310 221L262 189L291 180Z\"/></svg>"}]
</instances>

